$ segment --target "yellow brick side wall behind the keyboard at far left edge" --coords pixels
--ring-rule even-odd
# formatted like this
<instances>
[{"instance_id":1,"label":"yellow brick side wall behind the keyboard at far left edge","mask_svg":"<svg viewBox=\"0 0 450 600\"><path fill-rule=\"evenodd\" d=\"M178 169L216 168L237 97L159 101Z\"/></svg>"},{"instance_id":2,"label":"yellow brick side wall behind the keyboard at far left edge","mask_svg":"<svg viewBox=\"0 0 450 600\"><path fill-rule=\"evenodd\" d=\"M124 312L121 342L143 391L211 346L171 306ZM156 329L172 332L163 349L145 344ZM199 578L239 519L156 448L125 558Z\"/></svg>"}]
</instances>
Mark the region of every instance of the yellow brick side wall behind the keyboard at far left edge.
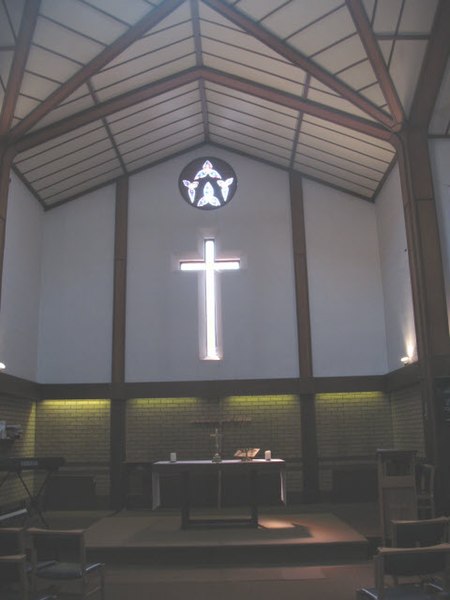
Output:
<instances>
[{"instance_id":1,"label":"yellow brick side wall behind the keyboard at far left edge","mask_svg":"<svg viewBox=\"0 0 450 600\"><path fill-rule=\"evenodd\" d=\"M16 400L11 398L0 399L0 420L8 425L20 425L22 436L14 442L0 442L0 456L35 456L36 432L36 405L31 401ZM4 478L6 473L0 473ZM32 490L34 474L30 471L24 473L24 480ZM0 488L0 506L9 507L22 504L27 498L27 493L16 475L8 475L5 483Z\"/></svg>"}]
</instances>

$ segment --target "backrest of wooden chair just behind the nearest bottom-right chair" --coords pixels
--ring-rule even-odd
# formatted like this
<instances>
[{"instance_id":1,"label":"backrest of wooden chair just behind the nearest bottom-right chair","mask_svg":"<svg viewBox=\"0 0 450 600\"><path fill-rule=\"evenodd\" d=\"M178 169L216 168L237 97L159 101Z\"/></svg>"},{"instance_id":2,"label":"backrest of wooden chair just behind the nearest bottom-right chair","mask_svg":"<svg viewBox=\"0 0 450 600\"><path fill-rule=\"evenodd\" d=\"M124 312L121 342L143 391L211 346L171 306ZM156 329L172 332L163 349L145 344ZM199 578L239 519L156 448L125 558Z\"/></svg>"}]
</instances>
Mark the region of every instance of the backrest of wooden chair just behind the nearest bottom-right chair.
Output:
<instances>
[{"instance_id":1,"label":"backrest of wooden chair just behind the nearest bottom-right chair","mask_svg":"<svg viewBox=\"0 0 450 600\"><path fill-rule=\"evenodd\" d=\"M449 541L448 534L448 517L413 521L392 521L392 546L395 548L444 544Z\"/></svg>"}]
</instances>

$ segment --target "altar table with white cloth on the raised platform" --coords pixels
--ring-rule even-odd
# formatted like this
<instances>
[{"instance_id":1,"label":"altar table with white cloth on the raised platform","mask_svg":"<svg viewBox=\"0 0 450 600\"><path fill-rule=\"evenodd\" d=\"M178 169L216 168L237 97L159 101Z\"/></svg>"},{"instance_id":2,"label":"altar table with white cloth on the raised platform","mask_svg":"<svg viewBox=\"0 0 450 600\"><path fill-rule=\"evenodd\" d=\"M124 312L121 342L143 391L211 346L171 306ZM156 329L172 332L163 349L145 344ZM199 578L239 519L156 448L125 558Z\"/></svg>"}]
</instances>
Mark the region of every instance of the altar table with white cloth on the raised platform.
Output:
<instances>
[{"instance_id":1,"label":"altar table with white cloth on the raised platform","mask_svg":"<svg viewBox=\"0 0 450 600\"><path fill-rule=\"evenodd\" d=\"M262 473L278 473L280 477L280 499L283 504L286 503L286 463L284 460L274 458L271 460L253 459L250 461L242 460L222 460L213 462L211 460L187 460L187 461L158 461L152 465L152 489L153 489L153 509L161 504L160 495L160 474L178 475L180 478L181 493L181 528L198 525L246 525L249 527L258 527L258 476ZM249 481L250 497L250 516L248 518L214 518L200 519L191 518L191 498L190 498L190 478L194 473L217 475L218 482L218 505L220 507L221 478L226 471L233 473L243 473Z\"/></svg>"}]
</instances>

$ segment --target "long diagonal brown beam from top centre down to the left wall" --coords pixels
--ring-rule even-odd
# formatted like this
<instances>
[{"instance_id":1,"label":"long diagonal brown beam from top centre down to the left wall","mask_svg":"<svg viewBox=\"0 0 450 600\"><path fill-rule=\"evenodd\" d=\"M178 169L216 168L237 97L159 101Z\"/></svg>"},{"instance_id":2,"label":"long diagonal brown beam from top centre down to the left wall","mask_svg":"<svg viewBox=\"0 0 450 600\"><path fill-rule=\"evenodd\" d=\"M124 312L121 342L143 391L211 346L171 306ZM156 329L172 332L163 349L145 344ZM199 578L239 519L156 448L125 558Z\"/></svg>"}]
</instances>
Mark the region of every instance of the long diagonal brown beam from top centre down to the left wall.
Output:
<instances>
[{"instance_id":1,"label":"long diagonal brown beam from top centre down to the left wall","mask_svg":"<svg viewBox=\"0 0 450 600\"><path fill-rule=\"evenodd\" d=\"M140 21L102 50L100 54L97 54L95 58L65 81L59 88L50 94L50 96L41 102L39 106L22 119L22 121L11 130L11 140L17 140L24 135L75 90L86 83L90 77L98 73L98 71L131 46L131 44L136 42L142 35L158 25L158 23L176 10L184 1L185 0L165 0L159 6L147 13Z\"/></svg>"}]
</instances>

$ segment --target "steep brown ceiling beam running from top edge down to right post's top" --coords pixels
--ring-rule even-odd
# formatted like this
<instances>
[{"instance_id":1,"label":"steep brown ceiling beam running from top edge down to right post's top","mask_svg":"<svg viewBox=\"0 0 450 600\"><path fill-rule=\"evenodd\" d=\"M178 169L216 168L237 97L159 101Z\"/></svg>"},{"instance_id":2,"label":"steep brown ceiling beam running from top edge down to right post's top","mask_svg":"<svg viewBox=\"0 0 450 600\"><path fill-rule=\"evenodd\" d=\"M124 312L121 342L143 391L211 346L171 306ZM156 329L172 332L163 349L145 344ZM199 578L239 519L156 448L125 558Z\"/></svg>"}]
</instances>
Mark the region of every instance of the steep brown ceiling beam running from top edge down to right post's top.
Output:
<instances>
[{"instance_id":1,"label":"steep brown ceiling beam running from top edge down to right post's top","mask_svg":"<svg viewBox=\"0 0 450 600\"><path fill-rule=\"evenodd\" d=\"M346 0L347 8L355 24L361 42L367 52L369 62L378 79L381 91L394 118L393 128L399 131L405 120L402 103L391 79L389 70L384 61L373 29L370 25L365 8L361 0Z\"/></svg>"}]
</instances>

